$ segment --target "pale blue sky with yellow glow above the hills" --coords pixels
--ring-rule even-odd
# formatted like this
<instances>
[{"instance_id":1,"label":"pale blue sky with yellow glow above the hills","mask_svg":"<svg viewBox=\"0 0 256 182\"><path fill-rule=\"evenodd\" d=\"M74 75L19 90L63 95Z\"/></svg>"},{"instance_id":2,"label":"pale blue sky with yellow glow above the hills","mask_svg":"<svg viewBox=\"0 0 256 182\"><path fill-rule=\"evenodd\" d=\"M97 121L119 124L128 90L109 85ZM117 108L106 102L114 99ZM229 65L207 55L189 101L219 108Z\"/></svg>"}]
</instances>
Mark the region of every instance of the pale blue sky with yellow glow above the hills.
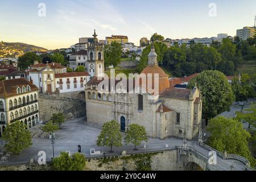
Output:
<instances>
[{"instance_id":1,"label":"pale blue sky with yellow glow above the hills","mask_svg":"<svg viewBox=\"0 0 256 182\"><path fill-rule=\"evenodd\" d=\"M255 0L0 0L0 41L68 48L94 29L98 39L126 35L136 45L155 32L171 39L234 36L254 26L255 15Z\"/></svg>"}]
</instances>

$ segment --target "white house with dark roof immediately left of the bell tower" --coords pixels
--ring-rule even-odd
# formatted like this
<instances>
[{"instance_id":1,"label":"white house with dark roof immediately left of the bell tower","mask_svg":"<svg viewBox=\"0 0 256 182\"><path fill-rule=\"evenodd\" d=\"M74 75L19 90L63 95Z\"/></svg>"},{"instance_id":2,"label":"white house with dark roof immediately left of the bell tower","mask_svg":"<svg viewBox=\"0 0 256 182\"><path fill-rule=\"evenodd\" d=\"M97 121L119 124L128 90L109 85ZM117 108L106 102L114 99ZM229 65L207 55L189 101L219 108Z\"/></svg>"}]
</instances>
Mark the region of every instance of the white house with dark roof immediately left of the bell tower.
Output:
<instances>
[{"instance_id":1,"label":"white house with dark roof immediately left of the bell tower","mask_svg":"<svg viewBox=\"0 0 256 182\"><path fill-rule=\"evenodd\" d=\"M73 55L69 56L69 68L72 68L73 71L75 71L78 66L87 67L87 58L88 56L86 50L81 50L74 53Z\"/></svg>"}]
</instances>

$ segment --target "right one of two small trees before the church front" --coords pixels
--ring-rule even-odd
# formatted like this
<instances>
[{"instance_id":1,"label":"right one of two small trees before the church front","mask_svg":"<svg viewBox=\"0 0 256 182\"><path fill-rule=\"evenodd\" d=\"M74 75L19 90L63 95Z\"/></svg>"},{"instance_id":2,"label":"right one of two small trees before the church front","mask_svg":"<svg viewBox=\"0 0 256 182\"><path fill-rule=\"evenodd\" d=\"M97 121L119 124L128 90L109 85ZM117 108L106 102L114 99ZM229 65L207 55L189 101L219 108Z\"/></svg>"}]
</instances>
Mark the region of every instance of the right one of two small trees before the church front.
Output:
<instances>
[{"instance_id":1,"label":"right one of two small trees before the church front","mask_svg":"<svg viewBox=\"0 0 256 182\"><path fill-rule=\"evenodd\" d=\"M147 142L147 133L145 127L137 124L131 124L126 133L125 143L133 143L134 150L137 150L136 146L139 146L142 141Z\"/></svg>"}]
</instances>

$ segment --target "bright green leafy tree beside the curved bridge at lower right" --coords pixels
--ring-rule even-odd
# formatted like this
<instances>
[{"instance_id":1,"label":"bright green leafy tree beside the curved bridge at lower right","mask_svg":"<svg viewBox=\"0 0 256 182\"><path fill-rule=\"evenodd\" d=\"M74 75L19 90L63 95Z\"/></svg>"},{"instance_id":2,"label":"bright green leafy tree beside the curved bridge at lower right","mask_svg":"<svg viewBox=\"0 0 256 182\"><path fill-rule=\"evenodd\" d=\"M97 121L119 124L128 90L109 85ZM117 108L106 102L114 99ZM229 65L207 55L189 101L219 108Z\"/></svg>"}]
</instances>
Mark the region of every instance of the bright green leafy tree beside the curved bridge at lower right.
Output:
<instances>
[{"instance_id":1,"label":"bright green leafy tree beside the curved bridge at lower right","mask_svg":"<svg viewBox=\"0 0 256 182\"><path fill-rule=\"evenodd\" d=\"M242 123L218 117L210 120L207 130L210 133L209 146L228 154L241 155L254 165L248 146L251 135L243 129Z\"/></svg>"}]
</instances>

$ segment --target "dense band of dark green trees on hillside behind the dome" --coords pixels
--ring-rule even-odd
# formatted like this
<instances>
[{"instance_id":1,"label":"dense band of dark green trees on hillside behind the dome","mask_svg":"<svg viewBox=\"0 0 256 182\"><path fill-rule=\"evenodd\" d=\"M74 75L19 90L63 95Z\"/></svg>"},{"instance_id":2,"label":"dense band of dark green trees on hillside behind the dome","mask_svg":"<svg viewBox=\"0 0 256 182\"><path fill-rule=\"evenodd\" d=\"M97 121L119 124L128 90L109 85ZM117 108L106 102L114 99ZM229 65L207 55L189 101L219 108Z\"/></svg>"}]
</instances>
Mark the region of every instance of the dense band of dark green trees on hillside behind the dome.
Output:
<instances>
[{"instance_id":1,"label":"dense band of dark green trees on hillside behind the dome","mask_svg":"<svg viewBox=\"0 0 256 182\"><path fill-rule=\"evenodd\" d=\"M191 42L189 46L175 44L170 48L162 43L163 40L163 36L157 34L151 38L151 43L158 54L158 62L169 68L177 77L205 70L218 70L225 75L233 75L238 64L246 63L246 60L256 60L256 38L249 38L246 41L238 37L235 37L234 41L226 38L222 43L213 42L210 47ZM138 72L147 66L150 47L147 46L143 50Z\"/></svg>"}]
</instances>

